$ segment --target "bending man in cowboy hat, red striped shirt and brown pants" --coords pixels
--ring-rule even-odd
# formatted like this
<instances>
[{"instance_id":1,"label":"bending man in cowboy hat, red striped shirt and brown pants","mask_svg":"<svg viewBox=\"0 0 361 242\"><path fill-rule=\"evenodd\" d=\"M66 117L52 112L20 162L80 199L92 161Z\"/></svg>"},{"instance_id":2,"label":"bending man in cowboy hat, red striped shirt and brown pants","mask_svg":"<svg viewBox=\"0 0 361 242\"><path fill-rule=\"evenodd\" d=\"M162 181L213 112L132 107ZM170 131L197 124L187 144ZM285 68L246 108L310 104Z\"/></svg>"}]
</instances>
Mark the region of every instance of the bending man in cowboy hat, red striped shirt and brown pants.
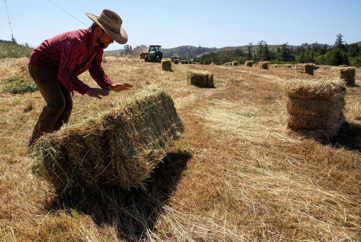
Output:
<instances>
[{"instance_id":1,"label":"bending man in cowboy hat, red striped shirt and brown pants","mask_svg":"<svg viewBox=\"0 0 361 242\"><path fill-rule=\"evenodd\" d=\"M56 35L31 52L27 62L29 73L47 105L29 138L30 147L41 135L57 131L69 121L74 91L101 99L101 96L108 96L109 91L132 87L129 83L114 84L101 68L103 49L114 40L119 44L128 41L121 28L122 19L107 9L99 16L86 15L94 22L89 29ZM78 79L86 70L101 88L91 88Z\"/></svg>"}]
</instances>

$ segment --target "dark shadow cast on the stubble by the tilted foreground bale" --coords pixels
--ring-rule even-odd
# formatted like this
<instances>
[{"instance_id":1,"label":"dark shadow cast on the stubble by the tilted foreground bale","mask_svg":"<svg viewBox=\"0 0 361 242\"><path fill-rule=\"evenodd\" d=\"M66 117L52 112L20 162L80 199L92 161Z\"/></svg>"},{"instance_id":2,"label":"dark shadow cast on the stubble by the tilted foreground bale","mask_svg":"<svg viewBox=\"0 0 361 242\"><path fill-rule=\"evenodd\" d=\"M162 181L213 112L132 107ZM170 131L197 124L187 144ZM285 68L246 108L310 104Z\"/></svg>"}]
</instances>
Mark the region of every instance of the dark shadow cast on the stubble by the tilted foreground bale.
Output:
<instances>
[{"instance_id":1,"label":"dark shadow cast on the stubble by the tilted foreground bale","mask_svg":"<svg viewBox=\"0 0 361 242\"><path fill-rule=\"evenodd\" d=\"M144 190L108 187L77 200L65 201L59 197L48 209L75 209L90 215L99 226L115 225L119 239L139 241L147 230L153 231L190 158L188 151L168 153L145 182Z\"/></svg>"}]
</instances>

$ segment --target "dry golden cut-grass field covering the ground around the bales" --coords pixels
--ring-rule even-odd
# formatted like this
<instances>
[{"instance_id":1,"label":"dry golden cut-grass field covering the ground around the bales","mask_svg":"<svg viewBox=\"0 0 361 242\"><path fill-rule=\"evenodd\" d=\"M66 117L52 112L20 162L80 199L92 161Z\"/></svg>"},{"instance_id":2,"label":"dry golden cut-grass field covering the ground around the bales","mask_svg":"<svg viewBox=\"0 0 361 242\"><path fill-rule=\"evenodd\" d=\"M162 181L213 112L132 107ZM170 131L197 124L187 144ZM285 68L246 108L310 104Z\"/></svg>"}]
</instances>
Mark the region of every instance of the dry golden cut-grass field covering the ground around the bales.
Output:
<instances>
[{"instance_id":1,"label":"dry golden cut-grass field covering the ground around the bales","mask_svg":"<svg viewBox=\"0 0 361 242\"><path fill-rule=\"evenodd\" d=\"M1 90L13 62L0 60ZM29 169L25 141L42 96L1 91L0 241L361 240L361 87L347 87L347 122L331 143L286 134L283 82L330 77L330 66L312 77L294 67L173 65L166 72L125 59L103 67L134 88L102 100L75 94L70 123L158 87L184 121L182 139L145 190L109 187L64 200ZM213 73L216 88L187 85L192 69ZM96 87L88 72L80 79Z\"/></svg>"}]
</instances>

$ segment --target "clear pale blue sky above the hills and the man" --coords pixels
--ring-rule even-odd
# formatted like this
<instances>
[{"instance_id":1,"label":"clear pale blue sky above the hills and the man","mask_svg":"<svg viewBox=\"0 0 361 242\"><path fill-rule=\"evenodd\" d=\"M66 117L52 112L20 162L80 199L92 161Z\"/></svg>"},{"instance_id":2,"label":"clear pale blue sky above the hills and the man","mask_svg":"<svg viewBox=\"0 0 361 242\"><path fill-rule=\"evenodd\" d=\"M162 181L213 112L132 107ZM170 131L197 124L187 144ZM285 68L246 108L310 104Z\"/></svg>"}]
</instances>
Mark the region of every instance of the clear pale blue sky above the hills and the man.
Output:
<instances>
[{"instance_id":1,"label":"clear pale blue sky above the hills and the man","mask_svg":"<svg viewBox=\"0 0 361 242\"><path fill-rule=\"evenodd\" d=\"M242 46L259 40L268 44L333 44L338 33L347 43L361 41L361 1L93 1L52 0L80 21L104 8L123 20L127 44L203 47ZM49 0L6 0L18 43L38 46L68 30L86 28ZM0 39L11 38L4 0L0 3ZM106 50L122 48L114 43Z\"/></svg>"}]
</instances>

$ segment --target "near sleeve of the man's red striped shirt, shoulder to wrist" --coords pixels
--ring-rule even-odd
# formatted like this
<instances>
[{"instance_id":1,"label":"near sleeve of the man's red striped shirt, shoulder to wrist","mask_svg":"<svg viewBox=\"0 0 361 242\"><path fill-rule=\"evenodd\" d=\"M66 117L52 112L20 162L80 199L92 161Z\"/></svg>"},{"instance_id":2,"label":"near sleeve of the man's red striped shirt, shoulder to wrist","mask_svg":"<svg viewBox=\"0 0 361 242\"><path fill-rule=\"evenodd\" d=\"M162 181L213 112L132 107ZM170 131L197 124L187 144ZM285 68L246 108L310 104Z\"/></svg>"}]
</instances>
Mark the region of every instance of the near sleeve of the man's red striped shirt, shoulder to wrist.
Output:
<instances>
[{"instance_id":1,"label":"near sleeve of the man's red striped shirt, shoulder to wrist","mask_svg":"<svg viewBox=\"0 0 361 242\"><path fill-rule=\"evenodd\" d=\"M89 88L73 74L78 54L83 51L81 40L69 38L62 40L61 58L58 69L58 79L61 84L71 91L77 91L84 95Z\"/></svg>"}]
</instances>

